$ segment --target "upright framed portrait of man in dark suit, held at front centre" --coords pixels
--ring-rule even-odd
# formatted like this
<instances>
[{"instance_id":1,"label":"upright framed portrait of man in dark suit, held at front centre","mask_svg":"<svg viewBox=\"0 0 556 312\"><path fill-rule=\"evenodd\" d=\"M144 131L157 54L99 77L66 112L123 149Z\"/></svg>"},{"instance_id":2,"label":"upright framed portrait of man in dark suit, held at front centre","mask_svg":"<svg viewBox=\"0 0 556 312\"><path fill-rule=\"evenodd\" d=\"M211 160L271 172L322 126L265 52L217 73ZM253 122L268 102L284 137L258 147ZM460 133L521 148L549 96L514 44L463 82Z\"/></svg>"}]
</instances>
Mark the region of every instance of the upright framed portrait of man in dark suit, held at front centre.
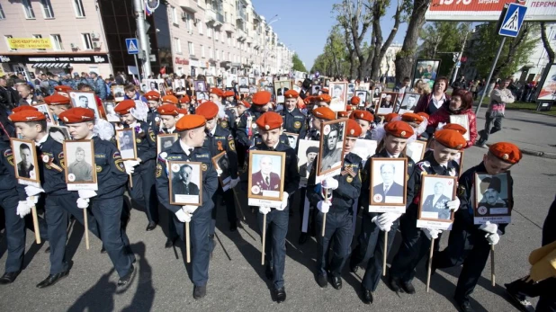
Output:
<instances>
[{"instance_id":1,"label":"upright framed portrait of man in dark suit, held at front centre","mask_svg":"<svg viewBox=\"0 0 556 312\"><path fill-rule=\"evenodd\" d=\"M285 159L286 156L283 152L249 151L247 184L249 205L256 206L256 201L252 200L265 200L269 201L269 204L274 201L278 205L280 204L283 193Z\"/></svg>"}]
</instances>

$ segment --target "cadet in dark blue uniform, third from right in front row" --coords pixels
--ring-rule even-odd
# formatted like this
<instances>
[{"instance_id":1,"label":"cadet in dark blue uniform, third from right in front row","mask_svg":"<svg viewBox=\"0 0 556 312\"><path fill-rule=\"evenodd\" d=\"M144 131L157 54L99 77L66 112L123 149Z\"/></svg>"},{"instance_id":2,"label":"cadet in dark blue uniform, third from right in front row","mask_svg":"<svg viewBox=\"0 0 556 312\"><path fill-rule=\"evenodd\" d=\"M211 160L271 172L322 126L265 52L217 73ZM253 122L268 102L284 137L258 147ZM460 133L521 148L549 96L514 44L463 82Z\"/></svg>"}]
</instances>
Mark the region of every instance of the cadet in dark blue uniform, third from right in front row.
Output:
<instances>
[{"instance_id":1,"label":"cadet in dark blue uniform, third from right in front row","mask_svg":"<svg viewBox=\"0 0 556 312\"><path fill-rule=\"evenodd\" d=\"M361 111L355 111L361 114ZM371 115L370 112L363 113ZM372 115L371 115L372 116ZM360 117L356 116L356 117ZM384 158L403 158L402 151L406 147L408 138L413 135L413 129L403 121L389 122L384 130L386 134L379 153L372 157ZM413 173L415 163L408 158L408 176ZM372 168L371 161L367 161L363 170L363 188L359 198L359 207L363 210L363 221L361 223L361 233L357 239L358 245L352 252L349 267L352 272L357 272L359 265L368 260L367 268L361 282L361 299L366 304L372 303L372 292L376 290L381 281L383 255L384 255L384 236L388 236L386 254L390 252L396 230L399 226L399 213L395 212L369 212L369 195L371 189Z\"/></svg>"}]
</instances>

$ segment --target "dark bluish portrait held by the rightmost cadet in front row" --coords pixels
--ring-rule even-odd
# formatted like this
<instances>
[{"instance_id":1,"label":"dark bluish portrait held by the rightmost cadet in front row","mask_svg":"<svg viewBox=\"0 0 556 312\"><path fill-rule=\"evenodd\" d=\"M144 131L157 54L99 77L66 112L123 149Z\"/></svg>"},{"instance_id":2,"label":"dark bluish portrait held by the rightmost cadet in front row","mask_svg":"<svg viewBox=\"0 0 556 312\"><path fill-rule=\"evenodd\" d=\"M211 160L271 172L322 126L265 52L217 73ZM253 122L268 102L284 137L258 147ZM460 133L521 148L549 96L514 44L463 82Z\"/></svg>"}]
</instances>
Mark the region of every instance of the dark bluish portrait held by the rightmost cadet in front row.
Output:
<instances>
[{"instance_id":1,"label":"dark bluish portrait held by the rightmost cadet in front row","mask_svg":"<svg viewBox=\"0 0 556 312\"><path fill-rule=\"evenodd\" d=\"M475 174L475 224L511 222L512 207L509 203L513 201L513 194L509 191L510 179L509 172Z\"/></svg>"}]
</instances>

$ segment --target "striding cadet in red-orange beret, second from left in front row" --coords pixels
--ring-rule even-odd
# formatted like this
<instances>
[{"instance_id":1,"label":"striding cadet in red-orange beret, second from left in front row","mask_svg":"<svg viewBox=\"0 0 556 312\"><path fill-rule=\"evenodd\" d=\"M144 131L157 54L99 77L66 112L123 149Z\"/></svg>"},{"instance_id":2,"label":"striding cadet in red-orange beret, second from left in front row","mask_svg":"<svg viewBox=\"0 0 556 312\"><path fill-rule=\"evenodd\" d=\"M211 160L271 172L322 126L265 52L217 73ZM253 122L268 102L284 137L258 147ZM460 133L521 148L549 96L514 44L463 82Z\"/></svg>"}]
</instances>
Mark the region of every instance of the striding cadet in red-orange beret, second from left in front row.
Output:
<instances>
[{"instance_id":1,"label":"striding cadet in red-orange beret, second from left in front row","mask_svg":"<svg viewBox=\"0 0 556 312\"><path fill-rule=\"evenodd\" d=\"M83 207L89 201L94 218L98 222L103 246L120 275L118 286L127 285L135 272L135 255L130 250L130 240L121 227L123 192L128 182L128 174L116 146L93 132L94 111L72 108L60 114L72 138L92 139L94 144L94 164L96 165L97 191L79 191L77 206ZM112 131L112 129L111 129ZM111 133L112 134L112 133Z\"/></svg>"}]
</instances>

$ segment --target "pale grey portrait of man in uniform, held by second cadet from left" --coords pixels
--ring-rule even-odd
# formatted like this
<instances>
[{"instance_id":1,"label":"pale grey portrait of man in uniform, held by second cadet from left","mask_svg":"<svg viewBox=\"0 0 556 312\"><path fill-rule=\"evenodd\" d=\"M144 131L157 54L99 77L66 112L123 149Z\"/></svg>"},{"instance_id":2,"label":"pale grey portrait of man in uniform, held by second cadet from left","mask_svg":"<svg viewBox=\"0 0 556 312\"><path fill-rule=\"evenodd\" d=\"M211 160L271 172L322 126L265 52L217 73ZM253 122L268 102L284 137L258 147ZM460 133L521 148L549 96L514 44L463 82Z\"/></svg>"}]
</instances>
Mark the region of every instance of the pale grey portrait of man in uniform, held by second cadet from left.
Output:
<instances>
[{"instance_id":1,"label":"pale grey portrait of man in uniform, held by second cadet from left","mask_svg":"<svg viewBox=\"0 0 556 312\"><path fill-rule=\"evenodd\" d=\"M67 191L98 189L92 139L64 141Z\"/></svg>"}]
</instances>

